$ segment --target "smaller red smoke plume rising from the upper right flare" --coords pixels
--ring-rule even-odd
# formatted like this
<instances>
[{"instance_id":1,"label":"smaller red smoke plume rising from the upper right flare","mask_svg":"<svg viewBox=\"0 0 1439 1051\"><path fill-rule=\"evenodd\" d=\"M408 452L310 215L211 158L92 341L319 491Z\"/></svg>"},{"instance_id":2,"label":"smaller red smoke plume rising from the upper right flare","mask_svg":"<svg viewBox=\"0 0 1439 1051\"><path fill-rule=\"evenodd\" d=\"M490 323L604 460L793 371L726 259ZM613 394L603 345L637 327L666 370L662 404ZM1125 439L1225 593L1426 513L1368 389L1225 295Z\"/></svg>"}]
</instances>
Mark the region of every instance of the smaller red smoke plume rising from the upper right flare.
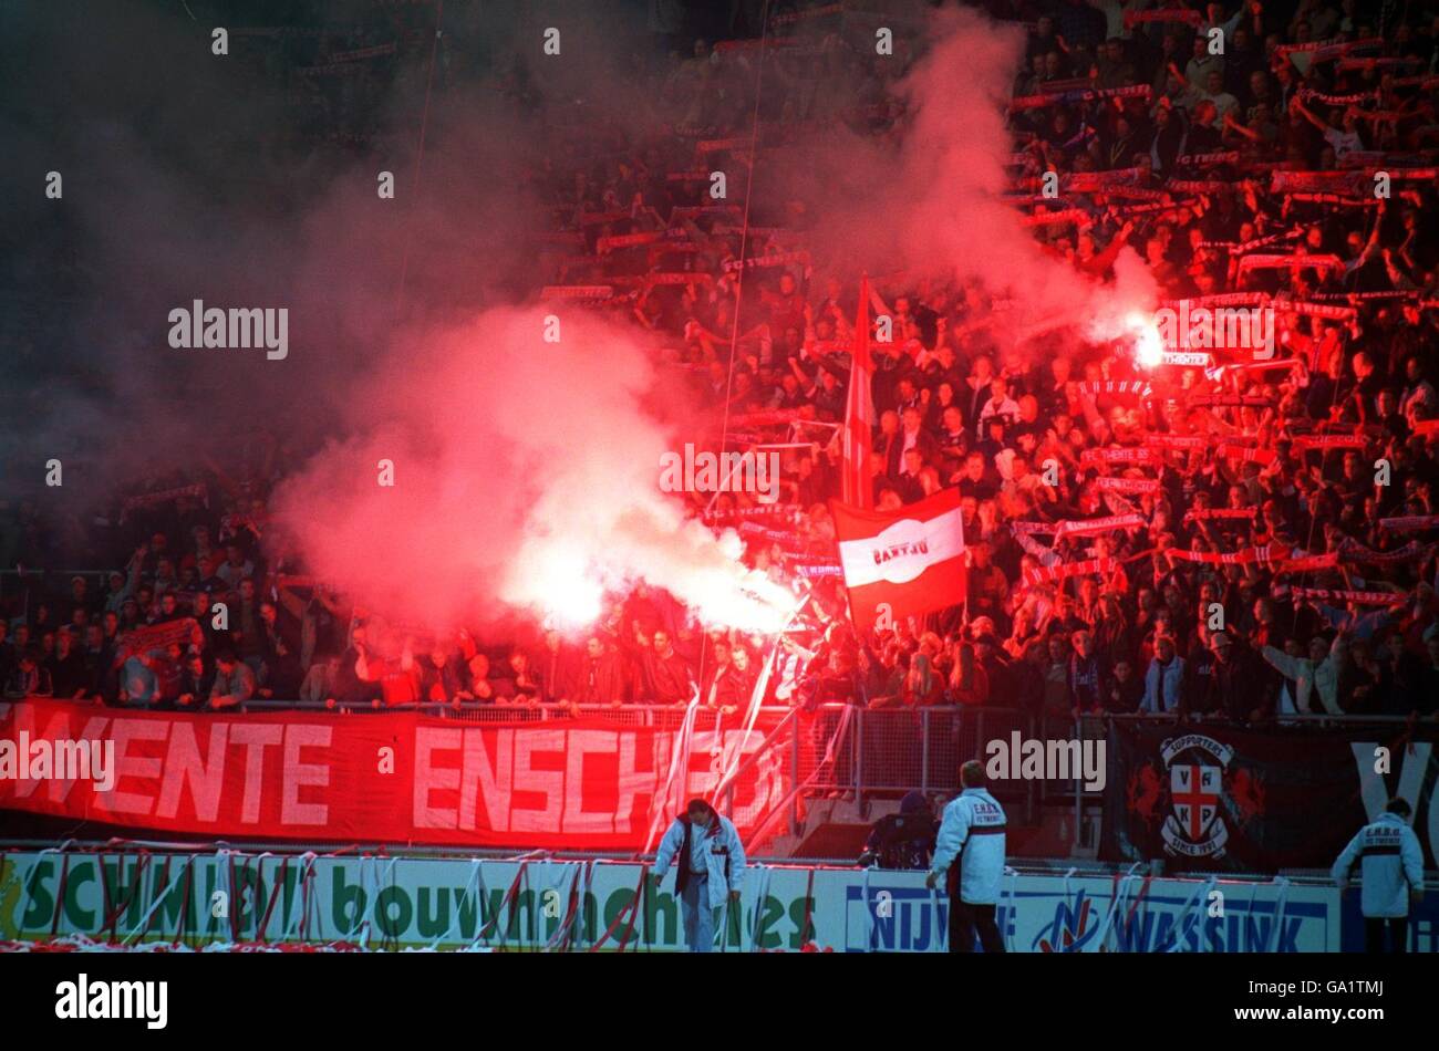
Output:
<instances>
[{"instance_id":1,"label":"smaller red smoke plume rising from the upper right flare","mask_svg":"<svg viewBox=\"0 0 1439 1051\"><path fill-rule=\"evenodd\" d=\"M1016 150L1004 111L1023 65L1023 30L966 9L928 24L932 46L899 85L911 121L902 139L826 128L787 151L791 162L774 175L780 196L814 213L820 259L873 275L896 266L912 276L953 273L1010 300L997 319L1010 339L1061 321L1088 336L1118 335L1154 300L1143 260L1125 249L1115 283L1099 286L1048 254L1000 200ZM761 190L770 177L757 175Z\"/></svg>"}]
</instances>

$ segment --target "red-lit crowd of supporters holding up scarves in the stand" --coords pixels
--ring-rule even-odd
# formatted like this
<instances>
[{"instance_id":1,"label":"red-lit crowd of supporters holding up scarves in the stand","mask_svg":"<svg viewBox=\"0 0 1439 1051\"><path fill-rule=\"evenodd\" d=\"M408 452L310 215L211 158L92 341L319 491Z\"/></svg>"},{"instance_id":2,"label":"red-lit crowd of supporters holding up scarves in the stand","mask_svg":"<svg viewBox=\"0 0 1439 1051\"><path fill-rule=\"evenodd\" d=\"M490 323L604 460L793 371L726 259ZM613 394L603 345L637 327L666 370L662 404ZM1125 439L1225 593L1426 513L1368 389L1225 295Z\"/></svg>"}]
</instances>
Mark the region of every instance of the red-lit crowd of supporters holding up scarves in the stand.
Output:
<instances>
[{"instance_id":1,"label":"red-lit crowd of supporters holding up scarves in the stand","mask_svg":"<svg viewBox=\"0 0 1439 1051\"><path fill-rule=\"evenodd\" d=\"M957 487L968 594L856 635L825 502L858 275L809 259L802 201L757 200L745 221L708 197L708 171L743 173L754 114L766 151L833 122L902 137L894 85L915 56L863 50L862 13L778 4L763 50L685 39L646 62L665 131L599 128L535 171L557 217L540 240L553 295L653 332L714 405L711 440L791 446L780 503L694 500L738 529L751 565L812 597L778 640L770 703L1439 715L1439 17L1389 0L984 6L1027 26L1010 197L1033 236L1097 280L1128 246L1167 300L1272 309L1278 349L1186 367L1135 361L1132 339L1020 344L1006 303L896 259L869 311L894 334L873 344L873 500ZM521 106L543 91L519 69L496 86ZM1040 193L1050 171L1058 198ZM7 696L201 709L684 705L698 690L737 709L774 644L705 631L643 587L581 640L386 625L272 559L265 499L283 464L260 460L122 497L106 518L128 562L30 591L0 621ZM20 508L12 546L39 529Z\"/></svg>"}]
</instances>

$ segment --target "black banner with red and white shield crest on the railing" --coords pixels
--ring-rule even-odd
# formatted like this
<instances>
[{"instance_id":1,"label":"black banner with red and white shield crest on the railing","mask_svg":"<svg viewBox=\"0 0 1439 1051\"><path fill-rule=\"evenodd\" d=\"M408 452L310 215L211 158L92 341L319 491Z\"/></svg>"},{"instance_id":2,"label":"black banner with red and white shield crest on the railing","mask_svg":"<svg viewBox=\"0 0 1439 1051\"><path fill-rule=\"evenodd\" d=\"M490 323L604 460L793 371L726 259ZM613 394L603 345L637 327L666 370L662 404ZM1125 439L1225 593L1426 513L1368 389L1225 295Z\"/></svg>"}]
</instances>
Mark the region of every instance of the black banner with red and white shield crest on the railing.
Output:
<instances>
[{"instance_id":1,"label":"black banner with red and white shield crest on the railing","mask_svg":"<svg viewBox=\"0 0 1439 1051\"><path fill-rule=\"evenodd\" d=\"M1390 797L1403 795L1433 867L1436 740L1432 725L1250 730L1115 720L1099 857L1168 858L1191 870L1328 868ZM1386 774L1374 772L1380 748L1392 756Z\"/></svg>"}]
</instances>

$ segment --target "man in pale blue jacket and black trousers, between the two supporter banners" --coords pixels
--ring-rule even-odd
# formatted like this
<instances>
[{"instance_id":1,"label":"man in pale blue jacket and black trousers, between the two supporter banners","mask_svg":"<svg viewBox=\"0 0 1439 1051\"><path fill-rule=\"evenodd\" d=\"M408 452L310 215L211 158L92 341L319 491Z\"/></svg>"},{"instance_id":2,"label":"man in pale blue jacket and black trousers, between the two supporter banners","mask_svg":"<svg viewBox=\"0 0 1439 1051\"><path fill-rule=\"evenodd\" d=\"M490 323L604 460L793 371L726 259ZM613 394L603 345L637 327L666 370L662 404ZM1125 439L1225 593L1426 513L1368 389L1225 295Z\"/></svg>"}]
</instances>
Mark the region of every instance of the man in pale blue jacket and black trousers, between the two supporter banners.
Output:
<instances>
[{"instance_id":1,"label":"man in pale blue jacket and black trousers, between the two supporter banners","mask_svg":"<svg viewBox=\"0 0 1439 1051\"><path fill-rule=\"evenodd\" d=\"M976 927L984 952L1004 952L994 924L1004 874L1004 811L984 788L984 766L977 761L960 768L960 784L964 791L944 808L925 886L932 890L958 861L950 880L950 952L974 952Z\"/></svg>"}]
</instances>

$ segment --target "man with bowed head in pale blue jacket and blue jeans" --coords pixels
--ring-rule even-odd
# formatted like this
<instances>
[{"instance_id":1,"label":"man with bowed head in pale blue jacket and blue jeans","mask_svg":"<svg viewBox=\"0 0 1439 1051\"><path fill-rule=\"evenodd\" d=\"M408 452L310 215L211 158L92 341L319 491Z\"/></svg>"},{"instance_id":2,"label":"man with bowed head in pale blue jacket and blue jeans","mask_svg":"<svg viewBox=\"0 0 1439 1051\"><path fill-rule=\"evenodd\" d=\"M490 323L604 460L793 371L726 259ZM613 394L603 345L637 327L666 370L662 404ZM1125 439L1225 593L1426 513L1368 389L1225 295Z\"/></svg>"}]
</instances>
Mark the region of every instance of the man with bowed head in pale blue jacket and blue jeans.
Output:
<instances>
[{"instance_id":1,"label":"man with bowed head in pale blue jacket and blue jeans","mask_svg":"<svg viewBox=\"0 0 1439 1051\"><path fill-rule=\"evenodd\" d=\"M685 924L689 952L709 952L715 940L715 913L727 901L740 907L744 884L744 845L730 818L720 817L704 799L691 799L685 812L659 841L655 878L662 880L678 860L675 894Z\"/></svg>"}]
</instances>

